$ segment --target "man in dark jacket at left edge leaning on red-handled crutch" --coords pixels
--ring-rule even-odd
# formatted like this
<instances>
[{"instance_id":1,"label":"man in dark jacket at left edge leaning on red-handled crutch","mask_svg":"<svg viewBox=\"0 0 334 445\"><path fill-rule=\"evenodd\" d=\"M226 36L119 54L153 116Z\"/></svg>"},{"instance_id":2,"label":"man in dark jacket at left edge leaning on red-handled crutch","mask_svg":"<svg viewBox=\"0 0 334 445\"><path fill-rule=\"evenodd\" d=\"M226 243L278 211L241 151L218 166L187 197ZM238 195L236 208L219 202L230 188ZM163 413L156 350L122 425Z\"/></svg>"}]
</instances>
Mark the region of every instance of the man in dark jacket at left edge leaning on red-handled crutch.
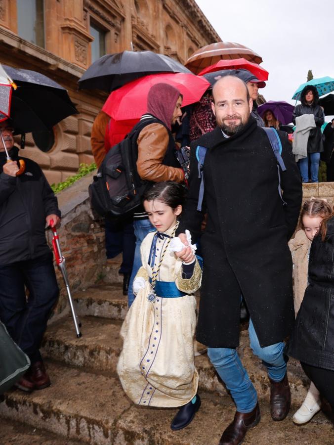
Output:
<instances>
[{"instance_id":1,"label":"man in dark jacket at left edge leaning on red-handled crutch","mask_svg":"<svg viewBox=\"0 0 334 445\"><path fill-rule=\"evenodd\" d=\"M24 159L25 171L16 176L17 160L23 158L14 147L13 131L10 121L0 122L0 319L30 358L30 369L15 385L31 392L50 385L39 348L59 290L45 223L59 223L60 211L34 161ZM12 161L6 162L3 144Z\"/></svg>"}]
</instances>

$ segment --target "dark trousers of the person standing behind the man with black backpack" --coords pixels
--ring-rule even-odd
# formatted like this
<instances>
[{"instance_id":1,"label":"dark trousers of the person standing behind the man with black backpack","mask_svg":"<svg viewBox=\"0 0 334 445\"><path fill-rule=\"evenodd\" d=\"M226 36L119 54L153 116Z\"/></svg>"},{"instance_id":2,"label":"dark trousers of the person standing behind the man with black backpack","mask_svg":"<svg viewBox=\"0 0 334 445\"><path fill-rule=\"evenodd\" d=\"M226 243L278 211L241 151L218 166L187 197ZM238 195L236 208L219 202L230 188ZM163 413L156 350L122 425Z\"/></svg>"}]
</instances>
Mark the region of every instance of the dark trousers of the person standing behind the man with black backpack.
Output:
<instances>
[{"instance_id":1,"label":"dark trousers of the person standing behind the man with black backpack","mask_svg":"<svg viewBox=\"0 0 334 445\"><path fill-rule=\"evenodd\" d=\"M133 220L121 222L106 220L106 255L115 258L123 252L119 273L131 273L136 238L133 232Z\"/></svg>"}]
</instances>

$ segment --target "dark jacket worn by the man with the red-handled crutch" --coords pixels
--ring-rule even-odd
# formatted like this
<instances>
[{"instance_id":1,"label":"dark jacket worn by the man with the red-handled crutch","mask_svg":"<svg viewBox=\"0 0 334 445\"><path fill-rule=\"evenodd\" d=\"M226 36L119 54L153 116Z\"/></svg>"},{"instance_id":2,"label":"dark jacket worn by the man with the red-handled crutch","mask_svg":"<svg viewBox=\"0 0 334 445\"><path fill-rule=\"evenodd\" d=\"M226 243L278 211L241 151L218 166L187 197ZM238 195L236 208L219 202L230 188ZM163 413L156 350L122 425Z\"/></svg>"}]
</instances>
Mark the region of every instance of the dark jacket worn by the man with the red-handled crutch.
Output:
<instances>
[{"instance_id":1,"label":"dark jacket worn by the man with the red-handled crutch","mask_svg":"<svg viewBox=\"0 0 334 445\"><path fill-rule=\"evenodd\" d=\"M18 157L16 147L10 156L13 160L24 159L26 169L18 177L6 175L2 171L5 152L0 152L0 266L50 253L45 218L61 216L57 198L36 162Z\"/></svg>"}]
</instances>

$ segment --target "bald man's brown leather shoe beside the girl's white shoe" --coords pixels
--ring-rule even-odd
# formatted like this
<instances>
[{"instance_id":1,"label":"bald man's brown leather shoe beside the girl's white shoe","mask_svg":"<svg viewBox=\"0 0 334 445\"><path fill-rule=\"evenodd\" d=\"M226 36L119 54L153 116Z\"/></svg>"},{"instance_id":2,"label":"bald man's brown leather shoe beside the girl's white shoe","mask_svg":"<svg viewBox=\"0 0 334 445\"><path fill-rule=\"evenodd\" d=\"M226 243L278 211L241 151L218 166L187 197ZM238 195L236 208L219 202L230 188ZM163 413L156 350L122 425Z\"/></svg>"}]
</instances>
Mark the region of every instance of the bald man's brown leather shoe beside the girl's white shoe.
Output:
<instances>
[{"instance_id":1,"label":"bald man's brown leather shoe beside the girl's white shoe","mask_svg":"<svg viewBox=\"0 0 334 445\"><path fill-rule=\"evenodd\" d=\"M270 381L270 414L273 420L287 417L291 405L290 385L286 373L281 382Z\"/></svg>"}]
</instances>

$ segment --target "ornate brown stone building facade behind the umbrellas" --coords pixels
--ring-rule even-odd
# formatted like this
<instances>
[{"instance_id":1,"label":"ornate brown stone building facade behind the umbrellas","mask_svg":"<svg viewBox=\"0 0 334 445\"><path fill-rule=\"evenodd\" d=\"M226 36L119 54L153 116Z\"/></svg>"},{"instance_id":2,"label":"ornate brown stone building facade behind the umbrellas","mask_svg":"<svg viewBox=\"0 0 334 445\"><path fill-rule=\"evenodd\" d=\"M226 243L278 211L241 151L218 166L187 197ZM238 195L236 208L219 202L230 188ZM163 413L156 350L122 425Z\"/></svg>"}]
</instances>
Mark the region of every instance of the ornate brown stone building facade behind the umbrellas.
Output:
<instances>
[{"instance_id":1,"label":"ornate brown stone building facade behind the umbrellas","mask_svg":"<svg viewBox=\"0 0 334 445\"><path fill-rule=\"evenodd\" d=\"M107 95L78 91L77 82L104 53L149 49L184 63L216 41L194 0L0 0L0 62L52 78L79 110L54 127L47 147L28 134L22 155L38 162L50 183L93 162L91 126Z\"/></svg>"}]
</instances>

